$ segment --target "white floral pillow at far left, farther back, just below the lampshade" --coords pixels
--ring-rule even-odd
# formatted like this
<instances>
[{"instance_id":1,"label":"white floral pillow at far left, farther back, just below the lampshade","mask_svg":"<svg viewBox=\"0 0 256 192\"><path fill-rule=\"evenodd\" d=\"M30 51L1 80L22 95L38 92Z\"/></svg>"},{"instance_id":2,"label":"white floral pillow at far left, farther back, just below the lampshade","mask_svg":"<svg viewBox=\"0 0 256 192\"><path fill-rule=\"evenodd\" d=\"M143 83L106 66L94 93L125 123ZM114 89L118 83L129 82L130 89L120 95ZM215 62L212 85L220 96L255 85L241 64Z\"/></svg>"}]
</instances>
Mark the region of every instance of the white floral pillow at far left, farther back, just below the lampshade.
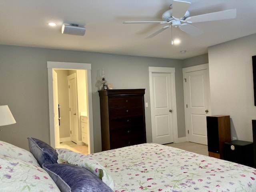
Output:
<instances>
[{"instance_id":1,"label":"white floral pillow at far left, farther back, just below the lampshade","mask_svg":"<svg viewBox=\"0 0 256 192\"><path fill-rule=\"evenodd\" d=\"M34 158L32 153L4 141L0 141L0 155L14 157L39 166L36 158Z\"/></svg>"}]
</instances>

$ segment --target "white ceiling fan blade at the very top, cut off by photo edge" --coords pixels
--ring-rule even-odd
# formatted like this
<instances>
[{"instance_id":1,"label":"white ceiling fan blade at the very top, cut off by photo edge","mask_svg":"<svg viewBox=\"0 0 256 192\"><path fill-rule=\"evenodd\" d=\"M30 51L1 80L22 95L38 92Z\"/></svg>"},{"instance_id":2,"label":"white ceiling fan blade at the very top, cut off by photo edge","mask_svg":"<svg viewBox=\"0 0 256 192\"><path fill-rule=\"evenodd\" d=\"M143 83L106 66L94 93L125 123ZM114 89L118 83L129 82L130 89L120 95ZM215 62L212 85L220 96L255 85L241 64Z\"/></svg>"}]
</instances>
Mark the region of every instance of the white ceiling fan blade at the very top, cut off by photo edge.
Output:
<instances>
[{"instance_id":1,"label":"white ceiling fan blade at the very top, cut off by photo edge","mask_svg":"<svg viewBox=\"0 0 256 192\"><path fill-rule=\"evenodd\" d=\"M174 0L172 3L172 17L176 19L183 18L190 4L190 2Z\"/></svg>"}]
</instances>

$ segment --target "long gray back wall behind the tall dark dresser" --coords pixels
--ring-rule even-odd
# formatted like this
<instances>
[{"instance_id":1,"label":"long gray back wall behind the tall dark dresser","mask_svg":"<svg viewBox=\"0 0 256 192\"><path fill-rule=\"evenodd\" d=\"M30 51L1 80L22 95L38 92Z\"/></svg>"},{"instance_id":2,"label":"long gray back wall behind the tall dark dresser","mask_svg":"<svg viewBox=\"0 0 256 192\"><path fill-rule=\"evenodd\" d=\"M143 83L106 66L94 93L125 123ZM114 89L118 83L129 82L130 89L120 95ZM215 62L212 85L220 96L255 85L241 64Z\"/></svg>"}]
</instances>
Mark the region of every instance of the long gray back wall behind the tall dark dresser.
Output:
<instances>
[{"instance_id":1,"label":"long gray back wall behind the tall dark dresser","mask_svg":"<svg viewBox=\"0 0 256 192\"><path fill-rule=\"evenodd\" d=\"M0 105L8 104L16 124L1 127L0 140L28 149L27 137L50 143L47 61L92 64L94 149L101 150L100 105L96 71L105 69L113 88L145 88L150 103L148 66L176 69L178 137L185 133L182 60L122 56L0 45ZM152 142L150 106L146 108L147 141Z\"/></svg>"}]
</instances>

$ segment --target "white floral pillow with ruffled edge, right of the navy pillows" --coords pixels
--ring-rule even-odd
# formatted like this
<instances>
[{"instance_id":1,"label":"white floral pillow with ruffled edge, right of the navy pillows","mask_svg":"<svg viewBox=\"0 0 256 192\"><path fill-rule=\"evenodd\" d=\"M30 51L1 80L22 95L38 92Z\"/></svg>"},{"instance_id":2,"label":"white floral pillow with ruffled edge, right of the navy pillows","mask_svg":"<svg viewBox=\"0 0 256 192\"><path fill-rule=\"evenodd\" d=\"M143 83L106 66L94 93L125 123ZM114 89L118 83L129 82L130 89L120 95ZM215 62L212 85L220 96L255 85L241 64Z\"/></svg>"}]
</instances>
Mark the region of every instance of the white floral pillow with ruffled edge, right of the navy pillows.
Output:
<instances>
[{"instance_id":1,"label":"white floral pillow with ruffled edge, right of the navy pillows","mask_svg":"<svg viewBox=\"0 0 256 192\"><path fill-rule=\"evenodd\" d=\"M80 167L84 167L93 174L95 174L98 178L101 178L104 183L106 183L112 190L114 189L114 180L108 174L107 170L102 166L98 161L94 158L84 155L81 153L73 152L68 149L56 148L58 155L58 163L69 163L73 165L78 165ZM103 171L103 176L101 172Z\"/></svg>"}]
</instances>

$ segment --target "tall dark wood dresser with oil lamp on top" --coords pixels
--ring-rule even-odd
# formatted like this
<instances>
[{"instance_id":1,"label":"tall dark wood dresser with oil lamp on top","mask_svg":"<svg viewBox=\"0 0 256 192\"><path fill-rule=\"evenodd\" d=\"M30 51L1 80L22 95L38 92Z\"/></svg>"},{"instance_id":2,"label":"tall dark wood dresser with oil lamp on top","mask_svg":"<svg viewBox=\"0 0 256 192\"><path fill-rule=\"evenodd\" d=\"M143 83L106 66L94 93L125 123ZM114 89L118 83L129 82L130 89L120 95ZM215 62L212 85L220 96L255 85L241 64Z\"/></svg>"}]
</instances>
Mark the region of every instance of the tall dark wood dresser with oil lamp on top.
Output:
<instances>
[{"instance_id":1,"label":"tall dark wood dresser with oil lamp on top","mask_svg":"<svg viewBox=\"0 0 256 192\"><path fill-rule=\"evenodd\" d=\"M146 143L145 89L98 92L102 150Z\"/></svg>"}]
</instances>

